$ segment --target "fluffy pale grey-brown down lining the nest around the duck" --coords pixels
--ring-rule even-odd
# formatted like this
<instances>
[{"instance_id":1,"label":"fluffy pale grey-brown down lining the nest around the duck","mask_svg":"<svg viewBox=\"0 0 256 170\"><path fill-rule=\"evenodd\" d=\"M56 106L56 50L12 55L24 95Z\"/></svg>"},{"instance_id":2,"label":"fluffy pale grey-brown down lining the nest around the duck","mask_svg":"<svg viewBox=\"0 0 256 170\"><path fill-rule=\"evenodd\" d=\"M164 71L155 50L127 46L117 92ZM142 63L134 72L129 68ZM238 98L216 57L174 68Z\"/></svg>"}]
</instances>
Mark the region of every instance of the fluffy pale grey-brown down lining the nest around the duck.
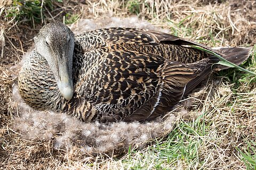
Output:
<instances>
[{"instance_id":1,"label":"fluffy pale grey-brown down lining the nest around the duck","mask_svg":"<svg viewBox=\"0 0 256 170\"><path fill-rule=\"evenodd\" d=\"M154 29L153 25L137 18L108 18L102 20L81 20L71 26L76 33L103 27L135 27ZM163 31L163 30L162 30ZM25 55L26 57L27 55ZM23 60L22 60L23 61ZM19 63L14 71L18 75ZM24 103L19 95L17 84L13 86L13 104L17 106L17 115L14 118L13 128L19 132L22 138L31 141L53 141L56 149L79 147L88 154L110 153L124 151L133 147L143 147L153 138L159 137L167 131L171 131L173 114L166 115L164 119L158 118L148 123L111 123L100 124L98 122L83 123L75 117L63 113L50 111L36 111Z\"/></svg>"}]
</instances>

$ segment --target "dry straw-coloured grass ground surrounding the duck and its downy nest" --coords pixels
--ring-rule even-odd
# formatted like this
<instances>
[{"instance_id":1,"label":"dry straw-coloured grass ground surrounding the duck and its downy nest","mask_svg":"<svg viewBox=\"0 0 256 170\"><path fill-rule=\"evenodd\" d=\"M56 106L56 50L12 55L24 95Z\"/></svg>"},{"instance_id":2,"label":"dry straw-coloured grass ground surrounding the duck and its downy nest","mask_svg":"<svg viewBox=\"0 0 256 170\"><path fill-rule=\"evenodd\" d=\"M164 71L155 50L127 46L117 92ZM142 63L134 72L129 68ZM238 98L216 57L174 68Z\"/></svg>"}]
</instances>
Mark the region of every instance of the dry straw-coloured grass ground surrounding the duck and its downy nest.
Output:
<instances>
[{"instance_id":1,"label":"dry straw-coloured grass ground surrounding the duck and its downy nest","mask_svg":"<svg viewBox=\"0 0 256 170\"><path fill-rule=\"evenodd\" d=\"M78 145L55 149L51 139L30 141L14 130L17 107L12 102L12 87L17 74L10 69L33 45L42 22L55 20L106 22L109 16L138 15L156 27L205 45L252 47L256 44L255 1L44 2L44 10L35 7L36 13L27 12L19 20L14 15L6 17L20 9L14 1L0 2L0 169L255 168L256 84L254 77L243 72L229 69L211 75L173 112L178 117L174 130L149 142L146 149L126 148L123 155L92 156ZM252 60L244 64L254 72L255 50Z\"/></svg>"}]
</instances>

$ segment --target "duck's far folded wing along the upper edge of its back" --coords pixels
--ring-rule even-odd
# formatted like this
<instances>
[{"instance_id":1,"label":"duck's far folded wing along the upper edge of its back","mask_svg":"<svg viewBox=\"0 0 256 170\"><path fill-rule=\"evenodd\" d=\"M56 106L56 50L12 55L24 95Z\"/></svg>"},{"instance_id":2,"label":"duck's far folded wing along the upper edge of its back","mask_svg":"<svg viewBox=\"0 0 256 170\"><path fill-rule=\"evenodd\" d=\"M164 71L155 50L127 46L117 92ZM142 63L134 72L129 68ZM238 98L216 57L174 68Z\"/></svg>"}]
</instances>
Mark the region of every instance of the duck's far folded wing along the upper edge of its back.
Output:
<instances>
[{"instance_id":1,"label":"duck's far folded wing along the upper edge of its back","mask_svg":"<svg viewBox=\"0 0 256 170\"><path fill-rule=\"evenodd\" d=\"M202 50L188 45L203 45L187 41L168 33L140 30L133 28L105 28L85 32L76 37L75 53L90 52L99 48L110 47L119 44L120 48L125 48L133 52L151 53L162 56L170 61L181 63L194 63L209 56ZM217 51L214 51L218 53Z\"/></svg>"}]
</instances>

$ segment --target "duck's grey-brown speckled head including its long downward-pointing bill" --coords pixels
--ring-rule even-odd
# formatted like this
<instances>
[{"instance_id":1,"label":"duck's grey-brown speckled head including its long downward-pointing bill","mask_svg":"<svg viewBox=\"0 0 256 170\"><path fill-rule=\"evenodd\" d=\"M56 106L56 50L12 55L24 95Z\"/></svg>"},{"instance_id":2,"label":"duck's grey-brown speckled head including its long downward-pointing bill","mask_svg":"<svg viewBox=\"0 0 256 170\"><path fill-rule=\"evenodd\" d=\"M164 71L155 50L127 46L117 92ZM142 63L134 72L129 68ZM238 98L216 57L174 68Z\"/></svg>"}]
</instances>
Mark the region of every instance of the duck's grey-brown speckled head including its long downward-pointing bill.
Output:
<instances>
[{"instance_id":1,"label":"duck's grey-brown speckled head including its long downward-pointing bill","mask_svg":"<svg viewBox=\"0 0 256 170\"><path fill-rule=\"evenodd\" d=\"M48 62L61 95L70 100L74 94L72 78L74 33L63 23L53 22L42 27L34 37L35 49Z\"/></svg>"}]
</instances>

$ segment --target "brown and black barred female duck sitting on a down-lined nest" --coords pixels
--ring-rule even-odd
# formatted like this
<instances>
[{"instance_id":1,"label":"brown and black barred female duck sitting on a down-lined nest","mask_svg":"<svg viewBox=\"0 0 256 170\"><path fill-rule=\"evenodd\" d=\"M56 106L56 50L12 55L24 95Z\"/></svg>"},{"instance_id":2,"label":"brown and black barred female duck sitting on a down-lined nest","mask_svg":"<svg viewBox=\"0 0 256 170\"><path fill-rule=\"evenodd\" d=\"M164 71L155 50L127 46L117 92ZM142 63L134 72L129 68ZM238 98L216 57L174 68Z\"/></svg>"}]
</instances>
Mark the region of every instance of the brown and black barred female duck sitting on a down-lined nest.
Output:
<instances>
[{"instance_id":1,"label":"brown and black barred female duck sitting on a down-lined nest","mask_svg":"<svg viewBox=\"0 0 256 170\"><path fill-rule=\"evenodd\" d=\"M167 33L106 28L74 33L63 23L43 26L19 74L19 92L35 109L82 121L148 121L164 115L217 66L239 64L250 48L214 50Z\"/></svg>"}]
</instances>

